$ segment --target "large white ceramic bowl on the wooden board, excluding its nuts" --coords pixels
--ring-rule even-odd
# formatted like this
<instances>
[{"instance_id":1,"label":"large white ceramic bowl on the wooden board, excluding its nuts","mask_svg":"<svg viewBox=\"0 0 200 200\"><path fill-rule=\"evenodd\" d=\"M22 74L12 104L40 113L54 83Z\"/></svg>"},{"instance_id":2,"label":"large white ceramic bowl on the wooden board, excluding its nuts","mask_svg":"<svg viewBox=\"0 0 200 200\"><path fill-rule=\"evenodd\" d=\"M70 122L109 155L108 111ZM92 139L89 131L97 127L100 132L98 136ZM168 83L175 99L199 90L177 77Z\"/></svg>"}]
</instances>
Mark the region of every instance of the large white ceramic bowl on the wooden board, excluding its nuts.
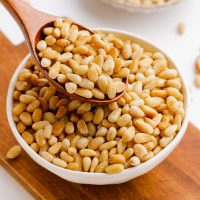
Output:
<instances>
[{"instance_id":1,"label":"large white ceramic bowl on the wooden board, excluding its nuts","mask_svg":"<svg viewBox=\"0 0 200 200\"><path fill-rule=\"evenodd\" d=\"M109 32L109 33L114 33L121 38L130 38L136 43L139 43L140 45L143 46L145 50L149 51L160 51L162 52L159 48L157 48L155 45L152 43L144 40L143 38L136 36L132 33L128 33L125 31L120 31L120 30L113 30L113 29L105 29L105 28L99 28L96 30L101 30L103 32ZM165 54L164 52L162 52ZM169 62L176 66L174 62L165 54L165 56L168 58ZM8 95L7 95L7 117L8 121L10 124L10 127L12 129L13 135L17 139L18 143L22 146L22 148L26 151L26 153L40 166L44 167L45 169L49 170L50 172L60 176L61 178L75 182L75 183L82 183L82 184L94 184L94 185L106 185L106 184L118 184L118 183L123 183L126 181L129 181L133 178L136 178L142 174L147 173L154 167L156 167L158 164L160 164L173 150L174 148L178 145L178 143L181 141L183 135L185 134L187 125L188 125L188 116L189 116L189 107L190 107L190 96L189 96L189 90L186 85L186 81L184 81L181 71L179 70L180 77L183 80L183 90L184 90L184 102L185 102L185 119L183 121L182 127L177 134L177 136L174 138L174 140L165 148L163 149L158 155L150 159L149 161L146 161L145 163L124 170L122 173L119 174L113 174L109 175L106 173L86 173L86 172L76 172L76 171L71 171L67 169L63 169L60 167L57 167L56 165L53 165L40 157L37 153L35 153L28 144L22 139L21 135L18 133L16 129L15 122L12 117L12 107L13 107L13 91L15 88L15 82L18 78L18 75L20 71L24 68L26 61L30 55L27 55L24 60L20 63L20 65L17 67L15 73L12 76L12 79L10 81L9 89L8 89ZM178 69L178 67L176 66Z\"/></svg>"}]
</instances>

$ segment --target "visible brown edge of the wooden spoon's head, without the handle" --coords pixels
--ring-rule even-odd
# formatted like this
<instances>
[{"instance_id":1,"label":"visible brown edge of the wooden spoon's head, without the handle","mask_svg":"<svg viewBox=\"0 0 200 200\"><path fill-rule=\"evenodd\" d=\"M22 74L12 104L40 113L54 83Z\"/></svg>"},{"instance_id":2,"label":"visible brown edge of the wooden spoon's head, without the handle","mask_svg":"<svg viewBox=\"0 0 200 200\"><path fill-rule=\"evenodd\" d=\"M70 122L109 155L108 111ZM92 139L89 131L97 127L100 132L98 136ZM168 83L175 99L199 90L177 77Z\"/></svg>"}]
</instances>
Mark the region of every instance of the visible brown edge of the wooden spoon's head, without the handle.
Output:
<instances>
[{"instance_id":1,"label":"visible brown edge of the wooden spoon's head, without the handle","mask_svg":"<svg viewBox=\"0 0 200 200\"><path fill-rule=\"evenodd\" d=\"M66 95L68 97L71 97L72 99L76 99L76 100L79 100L81 102L95 104L95 105L104 105L104 104L110 104L112 102L115 102L115 101L119 100L123 96L123 94L126 92L126 89L128 87L128 78L123 79L123 82L126 84L125 90L123 92L121 92L121 93L118 93L113 99L108 99L108 98L107 99L96 99L96 98L87 99L87 98L81 97L81 96L76 95L76 94L70 94L70 93L68 93L67 90L63 87L63 85L59 84L57 81L55 81L55 80L53 80L53 79L51 79L49 77L49 75L48 75L47 71L45 70L45 68L43 68L41 66L41 64L40 64L40 58L38 56L39 52L38 52L36 46L37 46L37 43L40 40L43 40L44 37L45 37L45 35L43 33L44 28L46 28L46 27L53 27L54 26L54 20L56 18L57 17L54 17L54 19L51 19L51 21L49 23L45 24L44 26L42 26L40 28L40 30L36 34L34 43L32 44L32 50L33 50L33 54L34 54L34 58L33 59L34 59L35 63L39 66L39 69L40 69L41 73L44 75L44 77L46 79L48 79L48 81L50 83L52 83L59 92L61 92L62 94ZM79 27L79 30L87 30L91 34L94 34L93 31L87 29L86 27L84 27L84 26L82 26L82 25L80 25L78 23L73 22L73 24L77 25Z\"/></svg>"}]
</instances>

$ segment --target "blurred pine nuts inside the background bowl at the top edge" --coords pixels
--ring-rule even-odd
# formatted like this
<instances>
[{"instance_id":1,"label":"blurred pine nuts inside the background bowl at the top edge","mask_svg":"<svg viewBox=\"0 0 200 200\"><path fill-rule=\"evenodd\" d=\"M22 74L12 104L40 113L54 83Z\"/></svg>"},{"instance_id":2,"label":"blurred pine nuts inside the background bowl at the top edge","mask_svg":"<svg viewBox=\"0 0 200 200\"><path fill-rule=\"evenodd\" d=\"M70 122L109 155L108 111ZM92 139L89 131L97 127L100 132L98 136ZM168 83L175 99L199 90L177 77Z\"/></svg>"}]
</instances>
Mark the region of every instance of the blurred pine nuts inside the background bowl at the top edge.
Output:
<instances>
[{"instance_id":1,"label":"blurred pine nuts inside the background bowl at the top edge","mask_svg":"<svg viewBox=\"0 0 200 200\"><path fill-rule=\"evenodd\" d=\"M162 6L166 4L171 4L176 0L112 0L114 3L120 3L127 6L135 7L153 7L153 6Z\"/></svg>"}]
</instances>

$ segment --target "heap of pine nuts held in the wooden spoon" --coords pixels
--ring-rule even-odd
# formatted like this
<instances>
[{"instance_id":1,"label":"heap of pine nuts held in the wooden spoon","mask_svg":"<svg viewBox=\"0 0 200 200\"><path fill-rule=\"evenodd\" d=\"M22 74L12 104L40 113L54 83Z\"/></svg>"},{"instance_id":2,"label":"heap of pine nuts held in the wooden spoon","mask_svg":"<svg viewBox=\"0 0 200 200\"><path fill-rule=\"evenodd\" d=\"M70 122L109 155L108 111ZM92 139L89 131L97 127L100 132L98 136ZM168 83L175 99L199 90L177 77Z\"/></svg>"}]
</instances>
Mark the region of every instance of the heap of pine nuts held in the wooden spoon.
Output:
<instances>
[{"instance_id":1,"label":"heap of pine nuts held in the wooden spoon","mask_svg":"<svg viewBox=\"0 0 200 200\"><path fill-rule=\"evenodd\" d=\"M70 20L57 18L54 27L43 30L44 40L37 44L41 66L51 79L67 92L90 99L113 99L125 90L130 69L130 41L79 30Z\"/></svg>"}]
</instances>

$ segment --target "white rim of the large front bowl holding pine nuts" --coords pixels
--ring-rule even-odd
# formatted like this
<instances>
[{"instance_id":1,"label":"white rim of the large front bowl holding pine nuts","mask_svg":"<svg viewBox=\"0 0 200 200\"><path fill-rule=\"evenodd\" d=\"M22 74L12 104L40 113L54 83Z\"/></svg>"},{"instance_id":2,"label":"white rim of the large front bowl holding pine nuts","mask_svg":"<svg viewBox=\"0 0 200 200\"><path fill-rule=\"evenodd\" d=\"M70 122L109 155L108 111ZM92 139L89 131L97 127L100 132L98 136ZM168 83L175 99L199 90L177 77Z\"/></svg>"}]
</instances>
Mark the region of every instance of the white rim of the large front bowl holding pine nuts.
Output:
<instances>
[{"instance_id":1,"label":"white rim of the large front bowl holding pine nuts","mask_svg":"<svg viewBox=\"0 0 200 200\"><path fill-rule=\"evenodd\" d=\"M127 35L130 37L134 37L139 39L140 41L143 41L145 43L147 43L148 45L150 45L153 48L156 48L159 52L163 53L166 58L168 60L170 60L170 62L174 65L174 67L178 70L179 72L179 76L183 82L183 90L184 90L184 106L185 106L185 117L181 126L181 129L179 130L179 132L177 133L177 135L175 136L175 138L164 148L162 149L157 155L155 155L153 158L151 158L148 161L145 161L144 163L136 166L136 167L131 167L128 169L123 170L121 173L118 174L106 174L106 173L91 173L91 172L79 172L79 171L73 171L73 170L69 170L69 169L64 169L61 167L58 167L48 161L46 161L44 158L42 158L39 154L37 154L21 137L20 133L17 131L16 129L16 125L14 122L14 119L12 117L12 105L13 105L13 91L14 91L14 86L15 86L15 82L18 78L18 75L20 73L20 71L25 67L25 63L28 60L28 58L30 57L30 53L21 61L21 63L17 66L14 74L12 75L12 78L10 80L9 83L9 87L8 87L8 93L7 93L7 99L6 99L6 112L7 112L7 119L10 125L10 128L12 130L13 135L15 136L16 140L18 141L18 143L20 144L20 146L26 151L26 153L33 159L37 159L38 164L42 165L44 168L48 169L51 172L54 171L60 171L62 173L67 173L67 174L71 174L74 176L82 176L82 177L93 177L93 178L108 178L108 176L119 176L119 175L126 175L126 174L130 174L130 173L139 173L139 171L144 171L146 168L149 168L150 166L153 166L154 163L156 163L156 161L158 160L162 160L162 157L164 157L166 154L170 153L170 149L172 149L173 147L176 147L178 145L178 143L181 141L182 137L185 134L185 130L187 128L188 122L189 122L189 110L190 110L190 104L191 104L191 97L190 97L190 92L189 92L189 88L187 86L187 82L185 81L185 78L183 77L183 75L181 74L181 71L179 69L179 67L174 63L174 61L169 57L168 54L166 54L164 51L162 51L157 45L155 45L153 42L144 39L141 36L138 36L134 33L128 32L128 31L122 31L119 29L111 29L111 28L93 28L93 30L95 31L102 31L102 32L109 32L109 33L116 33L116 34L122 34L122 35Z\"/></svg>"}]
</instances>

